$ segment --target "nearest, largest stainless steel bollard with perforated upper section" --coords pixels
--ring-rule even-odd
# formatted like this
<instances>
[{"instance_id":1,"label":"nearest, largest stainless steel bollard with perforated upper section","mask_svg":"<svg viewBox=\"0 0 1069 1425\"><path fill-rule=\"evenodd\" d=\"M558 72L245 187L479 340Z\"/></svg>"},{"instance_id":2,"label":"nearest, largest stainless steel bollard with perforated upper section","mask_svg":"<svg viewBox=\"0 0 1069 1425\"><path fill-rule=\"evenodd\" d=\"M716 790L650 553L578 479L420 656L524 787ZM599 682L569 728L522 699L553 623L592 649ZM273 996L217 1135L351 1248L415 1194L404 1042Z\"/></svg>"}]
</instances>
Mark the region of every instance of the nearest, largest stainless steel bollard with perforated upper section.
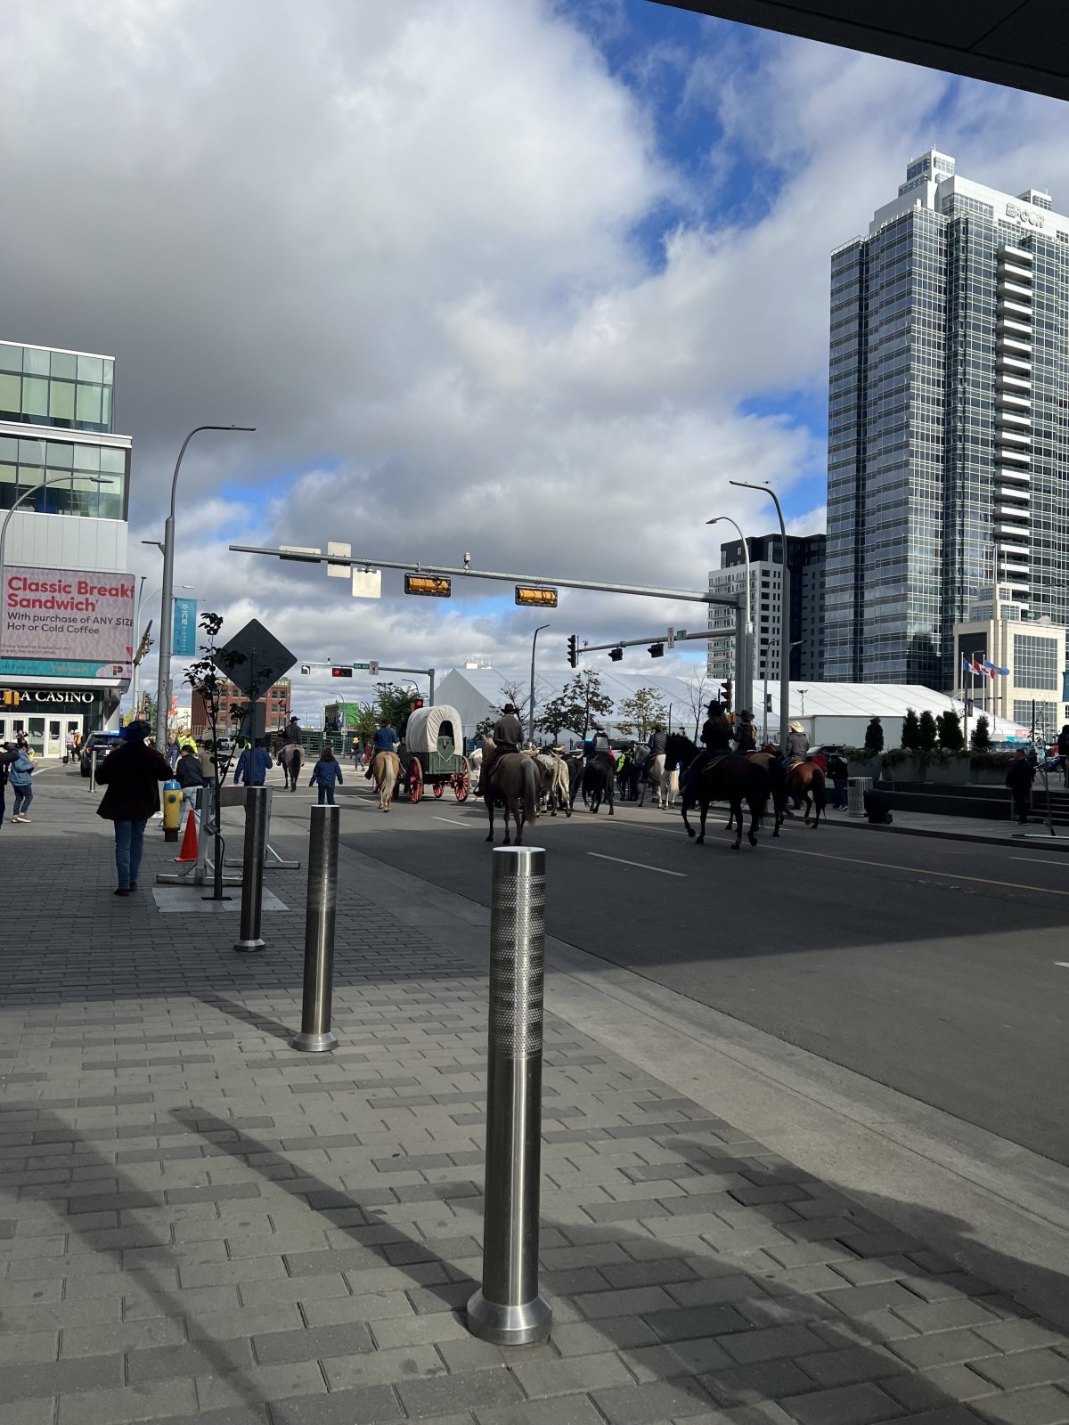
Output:
<instances>
[{"instance_id":1,"label":"nearest, largest stainless steel bollard with perforated upper section","mask_svg":"<svg viewBox=\"0 0 1069 1425\"><path fill-rule=\"evenodd\" d=\"M542 996L546 852L493 852L483 1284L468 1330L496 1345L544 1341L553 1308L539 1295Z\"/></svg>"}]
</instances>

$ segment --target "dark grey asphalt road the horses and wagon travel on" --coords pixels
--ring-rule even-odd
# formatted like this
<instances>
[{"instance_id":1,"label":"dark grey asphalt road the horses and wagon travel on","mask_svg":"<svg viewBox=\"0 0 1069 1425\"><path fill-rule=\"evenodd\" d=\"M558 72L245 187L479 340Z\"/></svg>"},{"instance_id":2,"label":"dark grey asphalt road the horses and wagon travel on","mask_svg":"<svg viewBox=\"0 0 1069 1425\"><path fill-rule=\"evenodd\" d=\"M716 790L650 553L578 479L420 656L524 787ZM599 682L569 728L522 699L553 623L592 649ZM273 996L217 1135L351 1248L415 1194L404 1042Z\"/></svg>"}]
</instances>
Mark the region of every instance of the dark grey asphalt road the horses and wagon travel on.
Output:
<instances>
[{"instance_id":1,"label":"dark grey asphalt road the horses and wagon travel on","mask_svg":"<svg viewBox=\"0 0 1069 1425\"><path fill-rule=\"evenodd\" d=\"M383 817L356 781L344 841L489 903L482 804ZM1069 1164L1069 856L835 822L733 852L724 819L696 846L649 804L540 818L549 932Z\"/></svg>"}]
</instances>

